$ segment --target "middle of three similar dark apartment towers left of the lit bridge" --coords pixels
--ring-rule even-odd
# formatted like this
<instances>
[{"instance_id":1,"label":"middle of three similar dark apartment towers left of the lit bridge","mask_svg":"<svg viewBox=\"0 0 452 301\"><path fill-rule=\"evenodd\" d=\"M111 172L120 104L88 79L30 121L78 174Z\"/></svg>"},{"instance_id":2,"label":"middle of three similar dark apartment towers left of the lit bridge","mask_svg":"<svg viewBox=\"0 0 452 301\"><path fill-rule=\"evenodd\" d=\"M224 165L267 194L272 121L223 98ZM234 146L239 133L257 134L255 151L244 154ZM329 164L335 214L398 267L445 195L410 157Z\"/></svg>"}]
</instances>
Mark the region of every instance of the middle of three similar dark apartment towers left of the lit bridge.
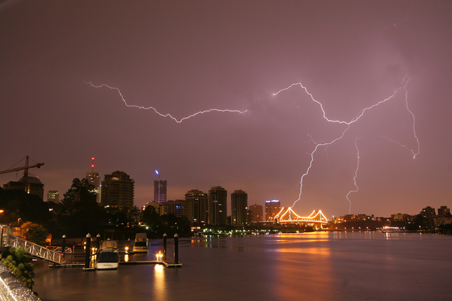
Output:
<instances>
[{"instance_id":1,"label":"middle of three similar dark apartment towers left of the lit bridge","mask_svg":"<svg viewBox=\"0 0 452 301\"><path fill-rule=\"evenodd\" d=\"M228 192L224 188L216 186L209 190L209 225L224 226L228 224L227 200Z\"/></svg>"}]
</instances>

